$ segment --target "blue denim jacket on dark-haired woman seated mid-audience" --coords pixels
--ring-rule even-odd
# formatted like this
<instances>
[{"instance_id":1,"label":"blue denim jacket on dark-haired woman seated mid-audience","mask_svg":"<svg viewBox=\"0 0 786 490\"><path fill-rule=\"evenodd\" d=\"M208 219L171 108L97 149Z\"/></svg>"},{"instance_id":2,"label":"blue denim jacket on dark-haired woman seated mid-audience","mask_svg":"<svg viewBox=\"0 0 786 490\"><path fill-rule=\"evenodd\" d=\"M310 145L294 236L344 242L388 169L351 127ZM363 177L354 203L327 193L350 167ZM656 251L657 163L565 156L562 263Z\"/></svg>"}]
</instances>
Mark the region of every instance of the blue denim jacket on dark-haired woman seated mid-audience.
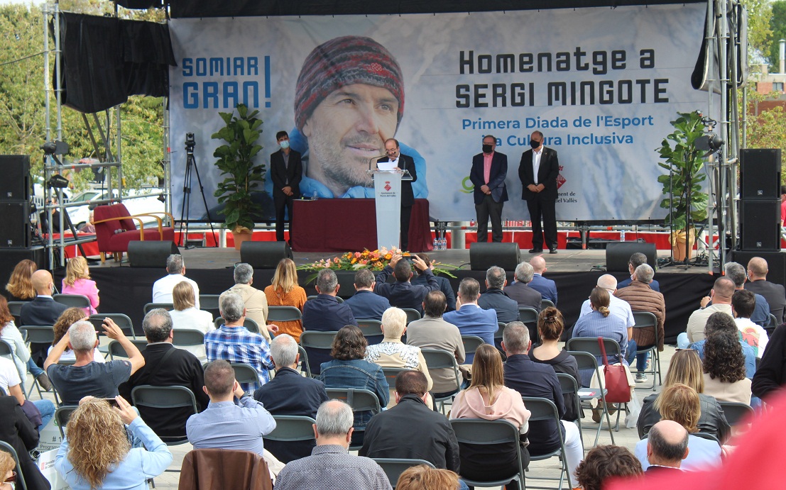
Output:
<instances>
[{"instance_id":1,"label":"blue denim jacket on dark-haired woman seated mid-audience","mask_svg":"<svg viewBox=\"0 0 786 490\"><path fill-rule=\"evenodd\" d=\"M390 400L389 387L382 368L379 364L367 360L333 359L322 363L319 380L325 383L325 388L368 389L376 393L376 397L380 399L380 407L386 407ZM365 430L365 424L372 415L369 410L355 412L354 429Z\"/></svg>"}]
</instances>

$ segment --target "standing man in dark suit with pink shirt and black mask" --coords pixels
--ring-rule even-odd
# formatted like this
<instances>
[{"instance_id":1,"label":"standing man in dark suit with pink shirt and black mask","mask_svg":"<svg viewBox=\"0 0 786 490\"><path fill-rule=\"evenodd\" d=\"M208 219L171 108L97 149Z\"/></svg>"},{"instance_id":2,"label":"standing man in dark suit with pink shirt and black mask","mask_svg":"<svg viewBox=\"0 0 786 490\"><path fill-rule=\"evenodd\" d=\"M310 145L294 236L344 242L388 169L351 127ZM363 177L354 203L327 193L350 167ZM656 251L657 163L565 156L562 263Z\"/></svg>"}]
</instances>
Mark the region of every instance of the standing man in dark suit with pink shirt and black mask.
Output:
<instances>
[{"instance_id":1,"label":"standing man in dark suit with pink shirt and black mask","mask_svg":"<svg viewBox=\"0 0 786 490\"><path fill-rule=\"evenodd\" d=\"M491 218L491 241L502 241L502 206L508 200L505 176L508 174L508 155L495 152L497 138L483 137L483 153L472 157L469 180L475 185L475 212L478 215L478 241L488 241L488 221Z\"/></svg>"}]
</instances>

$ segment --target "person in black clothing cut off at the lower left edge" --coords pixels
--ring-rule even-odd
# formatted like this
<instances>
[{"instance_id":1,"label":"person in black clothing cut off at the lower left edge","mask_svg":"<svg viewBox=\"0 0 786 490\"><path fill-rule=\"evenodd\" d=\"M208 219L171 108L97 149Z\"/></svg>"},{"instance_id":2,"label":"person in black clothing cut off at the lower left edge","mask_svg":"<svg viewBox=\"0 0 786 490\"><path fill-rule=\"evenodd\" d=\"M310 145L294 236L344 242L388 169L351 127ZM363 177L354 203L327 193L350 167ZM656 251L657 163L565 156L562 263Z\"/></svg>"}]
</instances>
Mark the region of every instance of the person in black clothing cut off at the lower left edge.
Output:
<instances>
[{"instance_id":1,"label":"person in black clothing cut off at the lower left edge","mask_svg":"<svg viewBox=\"0 0 786 490\"><path fill-rule=\"evenodd\" d=\"M50 490L50 483L46 480L31 458L30 452L39 445L39 431L30 422L28 416L20 407L17 397L0 394L0 441L11 444L17 452L24 483L28 490ZM7 454L0 450L0 454ZM4 479L5 481L5 479ZM17 485L17 488L22 488ZM5 490L5 488L3 489Z\"/></svg>"}]
</instances>

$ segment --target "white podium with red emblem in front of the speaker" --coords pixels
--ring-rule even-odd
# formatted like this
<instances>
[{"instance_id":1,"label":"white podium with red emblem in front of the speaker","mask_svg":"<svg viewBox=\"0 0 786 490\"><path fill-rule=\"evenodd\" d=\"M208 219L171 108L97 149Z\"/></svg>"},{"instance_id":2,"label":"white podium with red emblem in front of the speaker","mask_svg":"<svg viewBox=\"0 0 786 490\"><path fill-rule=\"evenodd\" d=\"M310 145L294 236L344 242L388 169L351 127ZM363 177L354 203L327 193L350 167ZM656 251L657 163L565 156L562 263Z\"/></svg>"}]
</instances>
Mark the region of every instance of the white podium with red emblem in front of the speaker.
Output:
<instances>
[{"instance_id":1,"label":"white podium with red emblem in front of the speaker","mask_svg":"<svg viewBox=\"0 0 786 490\"><path fill-rule=\"evenodd\" d=\"M376 207L376 248L400 247L401 181L411 181L406 170L373 170Z\"/></svg>"}]
</instances>

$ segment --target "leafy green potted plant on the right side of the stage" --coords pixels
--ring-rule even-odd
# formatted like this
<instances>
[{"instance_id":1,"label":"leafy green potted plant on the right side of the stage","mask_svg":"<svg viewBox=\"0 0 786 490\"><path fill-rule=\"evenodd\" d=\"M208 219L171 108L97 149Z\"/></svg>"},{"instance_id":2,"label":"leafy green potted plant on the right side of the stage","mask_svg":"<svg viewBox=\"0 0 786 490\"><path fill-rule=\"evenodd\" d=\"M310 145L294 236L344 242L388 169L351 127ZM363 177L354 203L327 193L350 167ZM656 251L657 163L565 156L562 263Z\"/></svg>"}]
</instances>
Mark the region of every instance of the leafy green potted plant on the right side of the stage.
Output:
<instances>
[{"instance_id":1,"label":"leafy green potted plant on the right side of the stage","mask_svg":"<svg viewBox=\"0 0 786 490\"><path fill-rule=\"evenodd\" d=\"M663 138L656 152L666 161L658 165L668 170L668 174L658 177L666 196L660 207L669 210L664 225L671 227L674 261L685 261L690 258L696 240L693 223L707 219L709 196L702 190L702 182L707 178L702 170L704 150L696 146L704 135L702 115L698 112L678 112L678 115L671 122L674 133Z\"/></svg>"}]
</instances>

